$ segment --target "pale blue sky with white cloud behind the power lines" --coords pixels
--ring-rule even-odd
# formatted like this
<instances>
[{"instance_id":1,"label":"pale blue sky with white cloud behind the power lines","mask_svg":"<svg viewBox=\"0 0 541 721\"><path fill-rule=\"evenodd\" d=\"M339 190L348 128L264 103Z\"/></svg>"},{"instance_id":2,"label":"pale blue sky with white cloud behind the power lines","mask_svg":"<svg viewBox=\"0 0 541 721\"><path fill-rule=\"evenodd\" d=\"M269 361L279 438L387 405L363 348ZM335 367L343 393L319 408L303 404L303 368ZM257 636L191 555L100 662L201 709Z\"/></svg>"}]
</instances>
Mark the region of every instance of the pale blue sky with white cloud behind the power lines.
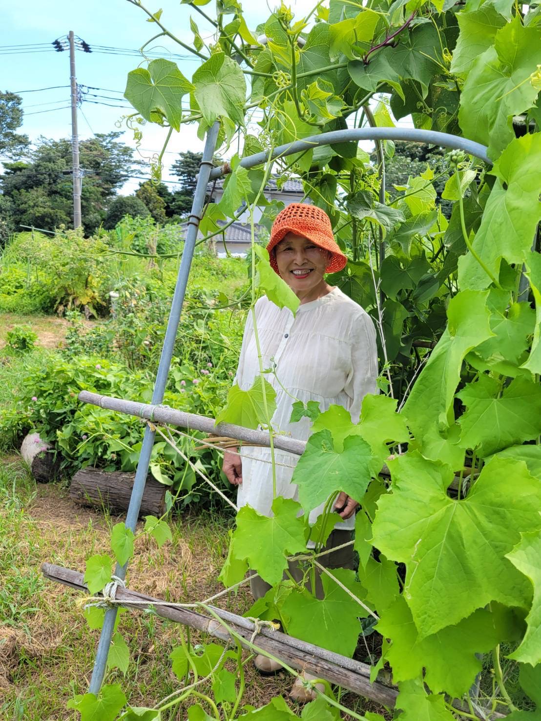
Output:
<instances>
[{"instance_id":1,"label":"pale blue sky with white cloud behind the power lines","mask_svg":"<svg viewBox=\"0 0 541 721\"><path fill-rule=\"evenodd\" d=\"M201 35L211 34L205 20L192 8L180 5L179 0L144 0L144 4L156 12L163 9L162 22L185 43L193 43L190 32L190 15L197 22ZM269 0L272 9L278 0ZM299 17L315 4L315 0L290 0L288 3ZM12 53L6 46L16 46L13 50L32 50L24 45L52 43L56 38L63 39L69 30L79 35L90 47L107 46L110 48L130 48L137 50L156 35L159 28L146 22L146 14L127 0L24 0L22 2L2 3L2 22L0 25L0 88L3 91L21 92L25 121L22 132L32 141L40 135L47 138L63 138L71 136L71 111L69 107L69 87L58 87L43 92L22 92L53 86L69 86L69 53L24 52ZM247 25L252 30L263 22L271 10L263 1L245 0L243 7ZM212 14L214 2L205 8ZM187 51L164 38L154 41L149 48L159 52L181 53ZM52 45L50 45L52 48ZM41 50L42 48L36 48ZM167 55L165 55L167 56ZM201 61L193 56L191 59L177 59L177 64L188 79ZM91 89L85 96L79 112L79 137L88 138L92 133L107 133L115 130L115 123L130 107L123 102L123 91L126 87L128 72L138 66L139 59L119 54L94 51L76 53L76 76L79 84L99 89ZM105 97L93 97L101 95ZM118 101L115 99L118 98ZM92 101L92 102L91 102ZM100 103L100 104L97 104ZM105 105L107 104L107 105ZM110 107L110 105L125 105ZM47 112L43 112L47 111ZM133 112L133 110L131 111ZM146 125L143 129L144 138L141 148L143 156L150 159L159 151L164 138L164 131L157 126ZM133 133L126 131L122 138L126 144L134 146ZM183 125L180 133L173 133L164 156L164 180L172 179L167 166L173 162L180 151L200 150L202 143L196 136L196 126ZM138 180L128 182L123 193L132 193L138 187Z\"/></svg>"}]
</instances>

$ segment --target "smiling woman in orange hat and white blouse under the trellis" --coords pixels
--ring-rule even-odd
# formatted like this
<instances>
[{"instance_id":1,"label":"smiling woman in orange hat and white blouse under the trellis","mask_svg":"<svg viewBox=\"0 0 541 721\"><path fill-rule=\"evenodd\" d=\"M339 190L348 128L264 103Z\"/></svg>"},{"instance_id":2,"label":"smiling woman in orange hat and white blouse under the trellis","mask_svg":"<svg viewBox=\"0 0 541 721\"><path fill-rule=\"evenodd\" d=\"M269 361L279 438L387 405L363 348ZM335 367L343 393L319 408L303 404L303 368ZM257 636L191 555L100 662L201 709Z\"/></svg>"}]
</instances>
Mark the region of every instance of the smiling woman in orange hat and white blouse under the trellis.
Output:
<instances>
[{"instance_id":1,"label":"smiling woman in orange hat and white blouse under the trellis","mask_svg":"<svg viewBox=\"0 0 541 721\"><path fill-rule=\"evenodd\" d=\"M359 421L361 402L366 393L374 393L377 378L376 334L368 314L339 288L329 286L325 273L335 273L346 265L333 236L327 214L315 205L291 203L278 213L267 246L271 266L299 298L295 317L287 308L279 309L266 296L255 304L263 368L274 368L265 379L276 391L276 412L272 423L276 430L293 438L307 440L309 418L291 423L292 404L296 399L315 401L323 412L332 404L343 406L353 423ZM237 384L251 388L260 372L252 315L248 316L237 369ZM224 473L238 486L238 506L250 505L265 516L271 514L273 481L271 451L249 448L246 456L226 453ZM296 456L275 451L276 492L296 499L296 485L291 483ZM331 490L331 489L330 489ZM343 521L335 526L325 549L351 540L358 503L340 493L335 510ZM322 506L310 510L310 523L322 513ZM352 567L351 546L322 557L325 565ZM301 580L303 572L290 564L291 575ZM264 596L270 586L259 577L252 579L254 598ZM321 586L318 583L318 596ZM255 658L262 673L276 671L273 661ZM302 686L299 687L302 691ZM294 688L295 691L295 688ZM292 694L294 697L299 696ZM301 700L299 698L299 700ZM307 700L307 699L302 699Z\"/></svg>"}]
</instances>

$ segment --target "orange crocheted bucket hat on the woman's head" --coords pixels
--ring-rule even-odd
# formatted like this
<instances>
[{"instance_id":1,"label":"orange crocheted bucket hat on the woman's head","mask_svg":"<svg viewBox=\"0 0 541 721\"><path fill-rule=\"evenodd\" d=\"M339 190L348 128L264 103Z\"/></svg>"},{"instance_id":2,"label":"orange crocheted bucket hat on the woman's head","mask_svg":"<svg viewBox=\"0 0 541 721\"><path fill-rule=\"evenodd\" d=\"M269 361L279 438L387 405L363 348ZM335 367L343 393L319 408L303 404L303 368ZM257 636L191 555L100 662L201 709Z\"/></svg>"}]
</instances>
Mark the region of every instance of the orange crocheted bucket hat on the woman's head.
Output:
<instances>
[{"instance_id":1,"label":"orange crocheted bucket hat on the woman's head","mask_svg":"<svg viewBox=\"0 0 541 721\"><path fill-rule=\"evenodd\" d=\"M329 265L325 268L326 273L337 273L348 262L348 258L335 241L333 226L330 224L327 213L321 208L317 208L317 205L291 203L276 216L271 228L271 240L267 246L269 260L276 273L278 273L278 264L276 263L276 254L272 250L288 233L302 235L333 254Z\"/></svg>"}]
</instances>

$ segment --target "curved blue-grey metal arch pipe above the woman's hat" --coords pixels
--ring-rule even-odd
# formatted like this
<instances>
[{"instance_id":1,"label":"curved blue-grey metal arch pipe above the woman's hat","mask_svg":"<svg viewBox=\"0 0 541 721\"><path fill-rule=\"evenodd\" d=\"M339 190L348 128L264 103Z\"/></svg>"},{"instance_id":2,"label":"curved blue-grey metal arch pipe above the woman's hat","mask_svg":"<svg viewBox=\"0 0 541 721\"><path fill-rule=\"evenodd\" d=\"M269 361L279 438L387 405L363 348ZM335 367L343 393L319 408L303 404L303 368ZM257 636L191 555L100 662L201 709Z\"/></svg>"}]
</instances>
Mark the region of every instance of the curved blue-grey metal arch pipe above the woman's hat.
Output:
<instances>
[{"instance_id":1,"label":"curved blue-grey metal arch pipe above the woman's hat","mask_svg":"<svg viewBox=\"0 0 541 721\"><path fill-rule=\"evenodd\" d=\"M491 159L487 155L487 148L480 143L475 143L467 138L450 135L449 133L439 133L437 131L423 131L420 128L346 128L341 131L330 131L329 133L321 133L318 136L309 136L297 140L294 143L286 143L286 145L278 146L273 150L272 157L286 157L299 153L310 148L317 148L322 145L334 145L335 143L344 143L346 141L361 140L392 140L392 141L413 141L414 143L428 143L430 145L438 145L443 148L453 150L463 150L466 153L483 160L483 162L492 165ZM268 153L256 153L242 158L240 165L243 168L253 168L261 165L268 160ZM229 163L225 163L221 167L211 170L209 180L222 177L231 172Z\"/></svg>"}]
</instances>

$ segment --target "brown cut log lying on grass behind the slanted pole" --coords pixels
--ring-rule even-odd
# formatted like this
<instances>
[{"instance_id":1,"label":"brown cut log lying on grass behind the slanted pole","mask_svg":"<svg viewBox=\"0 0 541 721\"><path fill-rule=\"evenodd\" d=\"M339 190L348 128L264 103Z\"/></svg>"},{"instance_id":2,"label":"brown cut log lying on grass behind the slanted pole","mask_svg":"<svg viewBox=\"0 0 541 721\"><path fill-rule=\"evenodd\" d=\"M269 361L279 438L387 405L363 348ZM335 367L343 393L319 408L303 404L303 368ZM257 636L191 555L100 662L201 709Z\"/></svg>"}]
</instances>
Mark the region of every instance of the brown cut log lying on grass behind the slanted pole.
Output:
<instances>
[{"instance_id":1,"label":"brown cut log lying on grass behind the slanted pole","mask_svg":"<svg viewBox=\"0 0 541 721\"><path fill-rule=\"evenodd\" d=\"M77 471L71 479L69 497L80 505L105 506L109 510L128 510L134 473L87 468ZM154 477L146 479L139 516L162 516L165 512L166 487Z\"/></svg>"}]
</instances>

